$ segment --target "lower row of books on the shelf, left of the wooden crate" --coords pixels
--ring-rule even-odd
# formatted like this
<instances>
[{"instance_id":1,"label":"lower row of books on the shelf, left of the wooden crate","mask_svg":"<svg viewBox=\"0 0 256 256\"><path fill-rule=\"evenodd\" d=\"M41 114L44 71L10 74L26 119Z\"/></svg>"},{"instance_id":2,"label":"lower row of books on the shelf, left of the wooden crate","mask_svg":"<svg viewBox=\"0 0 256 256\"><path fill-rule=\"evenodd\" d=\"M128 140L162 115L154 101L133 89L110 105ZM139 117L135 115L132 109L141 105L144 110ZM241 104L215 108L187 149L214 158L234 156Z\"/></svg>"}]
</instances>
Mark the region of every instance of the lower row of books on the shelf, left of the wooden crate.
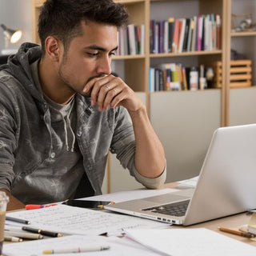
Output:
<instances>
[{"instance_id":1,"label":"lower row of books on the shelf, left of the wooden crate","mask_svg":"<svg viewBox=\"0 0 256 256\"><path fill-rule=\"evenodd\" d=\"M185 67L177 63L150 66L149 91L204 90L213 87L212 66Z\"/></svg>"}]
</instances>

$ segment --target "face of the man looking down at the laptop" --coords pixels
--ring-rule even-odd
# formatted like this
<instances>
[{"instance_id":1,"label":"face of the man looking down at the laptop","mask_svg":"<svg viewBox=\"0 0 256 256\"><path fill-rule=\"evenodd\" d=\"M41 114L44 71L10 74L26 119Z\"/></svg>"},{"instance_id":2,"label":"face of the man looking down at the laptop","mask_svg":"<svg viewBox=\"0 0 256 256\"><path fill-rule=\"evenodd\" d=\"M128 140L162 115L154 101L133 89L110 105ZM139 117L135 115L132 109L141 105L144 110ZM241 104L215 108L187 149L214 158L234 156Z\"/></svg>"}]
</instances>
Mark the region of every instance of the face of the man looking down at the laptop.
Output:
<instances>
[{"instance_id":1,"label":"face of the man looking down at the laptop","mask_svg":"<svg viewBox=\"0 0 256 256\"><path fill-rule=\"evenodd\" d=\"M96 22L82 22L82 36L72 39L58 69L62 82L81 93L95 77L111 73L111 57L117 49L117 27Z\"/></svg>"}]
</instances>

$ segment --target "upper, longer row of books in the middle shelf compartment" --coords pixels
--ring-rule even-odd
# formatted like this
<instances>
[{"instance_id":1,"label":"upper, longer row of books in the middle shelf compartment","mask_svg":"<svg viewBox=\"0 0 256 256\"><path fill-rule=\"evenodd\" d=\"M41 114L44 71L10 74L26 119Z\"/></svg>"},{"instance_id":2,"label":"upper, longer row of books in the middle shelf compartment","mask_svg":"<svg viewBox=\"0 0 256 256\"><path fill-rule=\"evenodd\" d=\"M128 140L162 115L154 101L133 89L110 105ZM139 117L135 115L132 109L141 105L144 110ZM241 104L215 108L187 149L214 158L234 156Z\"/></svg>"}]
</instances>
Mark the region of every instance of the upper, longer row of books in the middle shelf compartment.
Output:
<instances>
[{"instance_id":1,"label":"upper, longer row of books in the middle shelf compartment","mask_svg":"<svg viewBox=\"0 0 256 256\"><path fill-rule=\"evenodd\" d=\"M222 22L219 14L193 18L150 20L150 53L220 50Z\"/></svg>"}]
</instances>

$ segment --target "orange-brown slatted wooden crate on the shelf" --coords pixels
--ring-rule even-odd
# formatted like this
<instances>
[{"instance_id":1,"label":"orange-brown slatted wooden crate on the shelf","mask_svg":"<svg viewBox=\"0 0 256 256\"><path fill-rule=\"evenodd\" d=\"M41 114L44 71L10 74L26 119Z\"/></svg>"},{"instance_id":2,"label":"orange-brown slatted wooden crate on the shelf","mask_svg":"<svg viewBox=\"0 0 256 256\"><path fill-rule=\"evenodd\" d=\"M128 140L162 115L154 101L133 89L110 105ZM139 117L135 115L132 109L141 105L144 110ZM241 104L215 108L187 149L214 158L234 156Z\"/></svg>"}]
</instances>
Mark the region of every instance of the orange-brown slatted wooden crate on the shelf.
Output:
<instances>
[{"instance_id":1,"label":"orange-brown slatted wooden crate on the shelf","mask_svg":"<svg viewBox=\"0 0 256 256\"><path fill-rule=\"evenodd\" d=\"M230 88L251 86L251 60L230 61ZM222 87L222 62L214 62L214 87Z\"/></svg>"}]
</instances>

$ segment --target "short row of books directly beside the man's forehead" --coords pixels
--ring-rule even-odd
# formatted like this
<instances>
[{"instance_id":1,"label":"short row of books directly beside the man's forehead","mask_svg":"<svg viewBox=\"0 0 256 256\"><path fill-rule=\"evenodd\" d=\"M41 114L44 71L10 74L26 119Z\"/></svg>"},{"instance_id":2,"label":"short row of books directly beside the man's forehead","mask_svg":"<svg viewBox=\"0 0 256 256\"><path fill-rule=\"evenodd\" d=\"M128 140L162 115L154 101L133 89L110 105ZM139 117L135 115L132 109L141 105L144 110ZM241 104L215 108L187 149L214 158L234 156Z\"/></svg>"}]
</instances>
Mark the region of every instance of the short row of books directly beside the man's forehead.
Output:
<instances>
[{"instance_id":1,"label":"short row of books directly beside the man's forehead","mask_svg":"<svg viewBox=\"0 0 256 256\"><path fill-rule=\"evenodd\" d=\"M118 55L144 54L145 26L129 24L118 30Z\"/></svg>"}]
</instances>

